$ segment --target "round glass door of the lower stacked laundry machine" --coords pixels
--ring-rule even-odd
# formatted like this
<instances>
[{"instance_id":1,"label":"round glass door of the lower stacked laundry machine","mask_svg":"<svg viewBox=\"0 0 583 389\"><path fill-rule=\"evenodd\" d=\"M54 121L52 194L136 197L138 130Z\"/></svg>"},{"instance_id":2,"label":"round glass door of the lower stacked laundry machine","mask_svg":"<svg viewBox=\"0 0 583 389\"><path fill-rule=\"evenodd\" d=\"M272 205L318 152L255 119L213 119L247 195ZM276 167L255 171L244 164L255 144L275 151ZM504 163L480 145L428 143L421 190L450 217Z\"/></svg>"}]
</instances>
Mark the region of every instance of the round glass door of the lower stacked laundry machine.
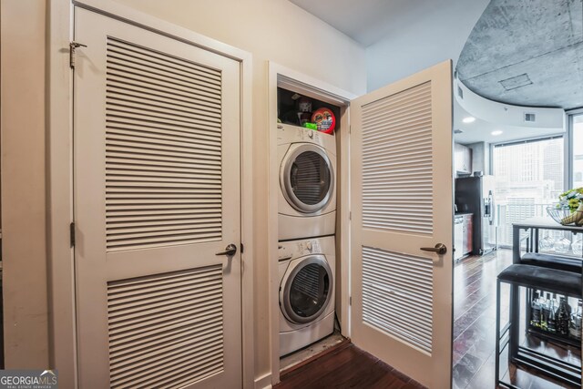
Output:
<instances>
[{"instance_id":1,"label":"round glass door of the lower stacked laundry machine","mask_svg":"<svg viewBox=\"0 0 583 389\"><path fill-rule=\"evenodd\" d=\"M281 311L291 322L313 322L326 310L332 287L332 271L322 255L292 261L281 282Z\"/></svg>"}]
</instances>

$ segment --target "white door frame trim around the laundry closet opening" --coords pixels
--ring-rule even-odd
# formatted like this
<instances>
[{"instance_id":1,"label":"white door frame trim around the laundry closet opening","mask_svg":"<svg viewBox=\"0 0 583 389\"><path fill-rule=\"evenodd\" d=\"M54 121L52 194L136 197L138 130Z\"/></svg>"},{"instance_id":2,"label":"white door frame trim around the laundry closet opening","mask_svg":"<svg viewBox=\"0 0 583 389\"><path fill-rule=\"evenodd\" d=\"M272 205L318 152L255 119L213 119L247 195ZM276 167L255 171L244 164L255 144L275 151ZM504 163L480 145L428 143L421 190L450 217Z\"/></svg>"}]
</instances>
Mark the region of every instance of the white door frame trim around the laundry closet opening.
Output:
<instances>
[{"instance_id":1,"label":"white door frame trim around the laundry closet opening","mask_svg":"<svg viewBox=\"0 0 583 389\"><path fill-rule=\"evenodd\" d=\"M335 302L340 302L341 309L336 309L340 321L343 322L343 335L350 337L349 322L349 262L350 262L350 212L348 206L349 193L349 169L348 158L350 150L350 101L356 97L351 92L334 87L317 78L306 76L300 72L283 67L273 61L268 61L268 102L269 102L269 127L277 126L277 88L284 87L302 95L318 98L335 106L341 107L340 118L336 118L340 123L342 131L336 133L337 148L336 158L336 274L340 271L340 276L336 276L335 284L340 285L335 293ZM265 153L268 159L268 188L270 194L267 201L267 256L271 260L278 256L278 194L280 191L280 162L277 152L277 131L268 132L268 142ZM340 193L340 195L339 195ZM343 195L343 193L345 195ZM277 261L269 262L270 293L268 295L270 308L270 338L271 338L271 385L280 382L280 273ZM261 377L258 383L267 382L267 377ZM258 384L258 387L262 387Z\"/></svg>"}]
</instances>

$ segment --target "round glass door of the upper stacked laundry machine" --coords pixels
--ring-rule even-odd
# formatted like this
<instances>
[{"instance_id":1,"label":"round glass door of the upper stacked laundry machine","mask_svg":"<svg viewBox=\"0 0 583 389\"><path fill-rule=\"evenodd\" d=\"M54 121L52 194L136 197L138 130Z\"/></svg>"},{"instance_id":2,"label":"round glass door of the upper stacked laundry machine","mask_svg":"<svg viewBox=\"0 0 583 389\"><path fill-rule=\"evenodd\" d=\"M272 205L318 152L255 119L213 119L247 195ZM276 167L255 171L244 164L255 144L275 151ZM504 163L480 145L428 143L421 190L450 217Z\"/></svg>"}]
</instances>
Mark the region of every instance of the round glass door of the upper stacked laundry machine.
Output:
<instances>
[{"instance_id":1,"label":"round glass door of the upper stacked laundry machine","mask_svg":"<svg viewBox=\"0 0 583 389\"><path fill-rule=\"evenodd\" d=\"M285 200L300 212L322 210L332 199L332 164L319 146L292 145L283 159L280 179Z\"/></svg>"}]
</instances>

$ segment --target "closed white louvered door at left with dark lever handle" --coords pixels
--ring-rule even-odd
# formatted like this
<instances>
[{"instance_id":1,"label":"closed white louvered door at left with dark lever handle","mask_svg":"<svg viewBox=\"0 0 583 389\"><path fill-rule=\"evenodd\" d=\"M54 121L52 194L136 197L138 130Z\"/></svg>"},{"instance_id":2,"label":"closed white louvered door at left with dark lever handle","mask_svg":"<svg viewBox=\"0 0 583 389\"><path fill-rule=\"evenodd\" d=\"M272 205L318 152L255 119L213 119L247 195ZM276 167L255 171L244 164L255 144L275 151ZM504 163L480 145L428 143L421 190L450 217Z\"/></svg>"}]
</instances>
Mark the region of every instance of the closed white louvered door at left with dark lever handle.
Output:
<instances>
[{"instance_id":1,"label":"closed white louvered door at left with dark lever handle","mask_svg":"<svg viewBox=\"0 0 583 389\"><path fill-rule=\"evenodd\" d=\"M75 39L79 387L240 387L240 64L79 8Z\"/></svg>"}]
</instances>

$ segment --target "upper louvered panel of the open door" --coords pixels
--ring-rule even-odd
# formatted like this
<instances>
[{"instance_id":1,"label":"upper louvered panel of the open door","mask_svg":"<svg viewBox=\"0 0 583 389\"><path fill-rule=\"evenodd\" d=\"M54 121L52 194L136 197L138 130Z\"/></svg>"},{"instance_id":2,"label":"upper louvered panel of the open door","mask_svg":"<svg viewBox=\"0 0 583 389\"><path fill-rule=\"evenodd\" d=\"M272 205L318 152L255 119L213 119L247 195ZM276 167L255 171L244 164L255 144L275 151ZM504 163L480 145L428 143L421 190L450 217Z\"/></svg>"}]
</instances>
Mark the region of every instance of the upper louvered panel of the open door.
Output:
<instances>
[{"instance_id":1,"label":"upper louvered panel of the open door","mask_svg":"<svg viewBox=\"0 0 583 389\"><path fill-rule=\"evenodd\" d=\"M363 228L433 233L431 115L430 83L363 106Z\"/></svg>"}]
</instances>

